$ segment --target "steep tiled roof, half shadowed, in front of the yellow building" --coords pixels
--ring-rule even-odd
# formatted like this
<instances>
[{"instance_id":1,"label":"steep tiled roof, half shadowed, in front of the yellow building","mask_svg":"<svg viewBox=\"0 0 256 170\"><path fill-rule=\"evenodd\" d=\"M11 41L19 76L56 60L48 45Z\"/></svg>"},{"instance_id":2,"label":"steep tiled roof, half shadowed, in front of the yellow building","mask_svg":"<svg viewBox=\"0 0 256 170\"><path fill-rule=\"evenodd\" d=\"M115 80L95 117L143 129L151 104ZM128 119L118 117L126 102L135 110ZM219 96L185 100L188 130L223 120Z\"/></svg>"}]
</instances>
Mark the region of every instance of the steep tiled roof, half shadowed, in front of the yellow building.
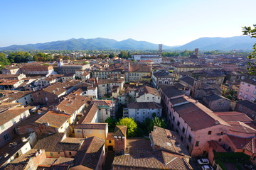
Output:
<instances>
[{"instance_id":1,"label":"steep tiled roof, half shadowed, in front of the yellow building","mask_svg":"<svg viewBox=\"0 0 256 170\"><path fill-rule=\"evenodd\" d=\"M75 155L74 166L82 165L82 167L96 169L104 146L105 140L99 137L85 139L81 149Z\"/></svg>"}]
</instances>

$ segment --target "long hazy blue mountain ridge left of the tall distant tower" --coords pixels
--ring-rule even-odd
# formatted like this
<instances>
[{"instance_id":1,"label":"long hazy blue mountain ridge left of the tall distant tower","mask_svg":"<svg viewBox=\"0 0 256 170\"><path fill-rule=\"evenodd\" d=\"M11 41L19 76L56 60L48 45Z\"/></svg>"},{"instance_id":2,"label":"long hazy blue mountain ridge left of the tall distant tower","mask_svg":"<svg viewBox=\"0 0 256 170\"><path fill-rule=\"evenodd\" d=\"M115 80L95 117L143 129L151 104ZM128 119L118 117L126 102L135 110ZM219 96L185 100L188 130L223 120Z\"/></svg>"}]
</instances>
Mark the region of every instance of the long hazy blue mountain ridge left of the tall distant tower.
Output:
<instances>
[{"instance_id":1,"label":"long hazy blue mountain ridge left of the tall distant tower","mask_svg":"<svg viewBox=\"0 0 256 170\"><path fill-rule=\"evenodd\" d=\"M172 47L163 45L164 50ZM84 39L72 38L70 40L53 41L28 45L11 45L0 47L0 50L158 50L158 44L146 41L137 41L131 38L117 41L107 38Z\"/></svg>"}]
</instances>

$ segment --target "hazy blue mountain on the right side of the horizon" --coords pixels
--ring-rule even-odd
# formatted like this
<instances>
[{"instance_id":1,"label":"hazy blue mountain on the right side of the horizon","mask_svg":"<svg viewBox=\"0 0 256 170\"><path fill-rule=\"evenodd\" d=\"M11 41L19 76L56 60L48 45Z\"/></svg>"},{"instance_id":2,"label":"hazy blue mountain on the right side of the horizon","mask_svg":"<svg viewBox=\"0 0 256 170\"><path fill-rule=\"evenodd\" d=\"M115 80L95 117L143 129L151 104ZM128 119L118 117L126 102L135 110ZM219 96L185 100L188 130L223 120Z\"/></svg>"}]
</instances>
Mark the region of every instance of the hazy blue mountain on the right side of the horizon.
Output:
<instances>
[{"instance_id":1,"label":"hazy blue mountain on the right side of the horizon","mask_svg":"<svg viewBox=\"0 0 256 170\"><path fill-rule=\"evenodd\" d=\"M188 42L186 45L176 47L175 50L252 50L255 38L248 36L237 36L230 38L198 38Z\"/></svg>"}]
</instances>

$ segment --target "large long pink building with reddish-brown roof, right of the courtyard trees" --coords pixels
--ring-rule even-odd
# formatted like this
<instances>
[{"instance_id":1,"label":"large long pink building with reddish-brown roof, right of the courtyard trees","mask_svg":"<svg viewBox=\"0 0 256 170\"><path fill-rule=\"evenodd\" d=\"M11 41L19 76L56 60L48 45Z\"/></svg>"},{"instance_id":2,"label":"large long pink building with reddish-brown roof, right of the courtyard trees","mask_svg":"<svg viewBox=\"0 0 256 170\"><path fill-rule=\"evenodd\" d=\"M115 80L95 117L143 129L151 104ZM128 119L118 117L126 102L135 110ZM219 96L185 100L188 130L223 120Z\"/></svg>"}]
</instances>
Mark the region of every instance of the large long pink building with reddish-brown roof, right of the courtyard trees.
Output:
<instances>
[{"instance_id":1,"label":"large long pink building with reddish-brown roof, right of the courtyard trees","mask_svg":"<svg viewBox=\"0 0 256 170\"><path fill-rule=\"evenodd\" d=\"M222 145L224 135L230 130L228 123L188 97L169 101L167 119L171 122L171 129L178 132L192 157L206 156L208 141L215 140Z\"/></svg>"}]
</instances>

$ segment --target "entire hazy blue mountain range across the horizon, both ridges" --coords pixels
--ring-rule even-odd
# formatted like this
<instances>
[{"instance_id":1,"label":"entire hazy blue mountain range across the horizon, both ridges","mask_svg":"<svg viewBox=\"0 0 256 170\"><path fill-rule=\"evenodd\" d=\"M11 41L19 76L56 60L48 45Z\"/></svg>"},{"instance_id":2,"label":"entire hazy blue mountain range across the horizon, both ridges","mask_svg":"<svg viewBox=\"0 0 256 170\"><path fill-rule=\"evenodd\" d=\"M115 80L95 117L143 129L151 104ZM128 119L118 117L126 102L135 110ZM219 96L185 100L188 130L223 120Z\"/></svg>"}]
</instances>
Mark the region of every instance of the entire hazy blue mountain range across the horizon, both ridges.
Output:
<instances>
[{"instance_id":1,"label":"entire hazy blue mountain range across the horizon, both ridges","mask_svg":"<svg viewBox=\"0 0 256 170\"><path fill-rule=\"evenodd\" d=\"M248 36L230 38L198 38L181 46L163 45L163 50L252 50L255 39ZM137 41L129 38L117 41L107 38L84 39L72 38L46 43L11 45L0 47L0 50L158 50L158 44L146 41Z\"/></svg>"}]
</instances>

